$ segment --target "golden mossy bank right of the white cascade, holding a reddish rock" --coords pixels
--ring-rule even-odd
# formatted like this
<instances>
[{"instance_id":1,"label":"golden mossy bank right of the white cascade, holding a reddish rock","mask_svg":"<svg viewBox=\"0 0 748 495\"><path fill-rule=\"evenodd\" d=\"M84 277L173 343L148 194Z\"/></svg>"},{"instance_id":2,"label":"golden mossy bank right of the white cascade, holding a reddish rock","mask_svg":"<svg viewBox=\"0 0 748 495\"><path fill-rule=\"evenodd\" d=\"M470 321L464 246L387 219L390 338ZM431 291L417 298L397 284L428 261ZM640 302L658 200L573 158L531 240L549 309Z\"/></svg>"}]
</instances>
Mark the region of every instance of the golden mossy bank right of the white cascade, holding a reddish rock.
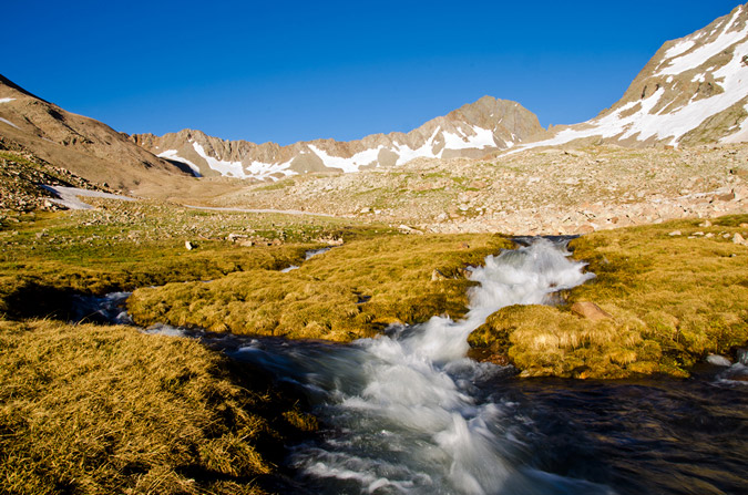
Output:
<instances>
[{"instance_id":1,"label":"golden mossy bank right of the white cascade, holding a reddish rock","mask_svg":"<svg viewBox=\"0 0 748 495\"><path fill-rule=\"evenodd\" d=\"M748 247L731 241L748 215L605 230L572 241L596 278L557 307L510 307L470 336L524 375L686 375L708 353L748 342ZM742 225L742 226L741 226ZM676 230L680 235L670 235ZM576 317L593 301L611 319Z\"/></svg>"}]
</instances>

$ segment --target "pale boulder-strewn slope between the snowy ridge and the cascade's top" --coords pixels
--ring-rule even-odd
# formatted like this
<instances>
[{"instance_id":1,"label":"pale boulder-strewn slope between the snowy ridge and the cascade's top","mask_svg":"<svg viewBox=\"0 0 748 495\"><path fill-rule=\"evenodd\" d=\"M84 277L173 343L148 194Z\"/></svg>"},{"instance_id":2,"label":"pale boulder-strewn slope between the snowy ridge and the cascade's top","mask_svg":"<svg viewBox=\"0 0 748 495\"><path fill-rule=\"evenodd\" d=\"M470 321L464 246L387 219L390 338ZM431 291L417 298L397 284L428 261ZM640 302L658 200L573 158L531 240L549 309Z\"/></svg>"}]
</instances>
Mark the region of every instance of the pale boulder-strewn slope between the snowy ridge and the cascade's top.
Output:
<instances>
[{"instance_id":1,"label":"pale boulder-strewn slope between the snowy ridge and the cascade's top","mask_svg":"<svg viewBox=\"0 0 748 495\"><path fill-rule=\"evenodd\" d=\"M308 174L247 186L217 206L306 209L422 231L582 234L748 209L748 146L534 149L491 161Z\"/></svg>"}]
</instances>

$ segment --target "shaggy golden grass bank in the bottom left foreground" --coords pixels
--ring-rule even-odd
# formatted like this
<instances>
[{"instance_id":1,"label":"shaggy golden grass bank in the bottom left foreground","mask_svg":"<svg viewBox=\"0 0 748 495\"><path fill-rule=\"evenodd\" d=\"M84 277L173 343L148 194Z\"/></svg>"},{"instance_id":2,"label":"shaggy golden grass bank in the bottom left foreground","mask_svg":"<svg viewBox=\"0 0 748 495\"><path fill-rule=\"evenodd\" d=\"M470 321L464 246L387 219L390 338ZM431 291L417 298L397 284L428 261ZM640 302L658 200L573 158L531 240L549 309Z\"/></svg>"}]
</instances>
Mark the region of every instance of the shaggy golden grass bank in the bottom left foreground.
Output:
<instances>
[{"instance_id":1,"label":"shaggy golden grass bank in the bottom left foreground","mask_svg":"<svg viewBox=\"0 0 748 495\"><path fill-rule=\"evenodd\" d=\"M196 341L132 328L0 321L3 493L260 494L293 396Z\"/></svg>"}]
</instances>

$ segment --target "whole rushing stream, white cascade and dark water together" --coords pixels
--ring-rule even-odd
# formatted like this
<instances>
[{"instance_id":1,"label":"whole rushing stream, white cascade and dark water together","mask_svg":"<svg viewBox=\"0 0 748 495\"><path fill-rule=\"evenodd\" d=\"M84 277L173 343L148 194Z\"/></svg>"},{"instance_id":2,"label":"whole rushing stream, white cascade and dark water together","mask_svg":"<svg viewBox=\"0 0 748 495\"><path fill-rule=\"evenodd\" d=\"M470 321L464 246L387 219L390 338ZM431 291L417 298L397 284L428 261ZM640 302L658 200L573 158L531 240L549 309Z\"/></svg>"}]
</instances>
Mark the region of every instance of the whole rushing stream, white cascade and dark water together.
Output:
<instances>
[{"instance_id":1,"label":"whole rushing stream, white cascade and dark water together","mask_svg":"<svg viewBox=\"0 0 748 495\"><path fill-rule=\"evenodd\" d=\"M479 285L460 321L434 317L348 346L145 331L199 338L308 396L321 430L290 446L294 493L748 494L745 353L687 380L618 381L519 379L465 357L494 311L551 303L592 277L564 241L535 239L472 269ZM127 296L80 309L126 323Z\"/></svg>"}]
</instances>

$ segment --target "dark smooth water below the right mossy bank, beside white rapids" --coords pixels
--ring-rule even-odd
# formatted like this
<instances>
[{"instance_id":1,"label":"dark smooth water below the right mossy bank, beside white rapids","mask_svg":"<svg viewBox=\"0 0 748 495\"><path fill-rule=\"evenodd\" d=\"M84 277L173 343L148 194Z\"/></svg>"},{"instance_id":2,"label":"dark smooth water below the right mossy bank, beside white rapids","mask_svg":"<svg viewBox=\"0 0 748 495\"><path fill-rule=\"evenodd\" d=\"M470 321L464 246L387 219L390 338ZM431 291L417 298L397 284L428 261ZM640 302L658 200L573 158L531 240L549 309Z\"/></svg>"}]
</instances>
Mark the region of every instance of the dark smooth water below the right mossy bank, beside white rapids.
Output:
<instances>
[{"instance_id":1,"label":"dark smooth water below the right mossy bank, beside white rapids","mask_svg":"<svg viewBox=\"0 0 748 495\"><path fill-rule=\"evenodd\" d=\"M724 369L638 381L500 379L485 400L511 405L518 461L618 494L748 494L748 382Z\"/></svg>"}]
</instances>

